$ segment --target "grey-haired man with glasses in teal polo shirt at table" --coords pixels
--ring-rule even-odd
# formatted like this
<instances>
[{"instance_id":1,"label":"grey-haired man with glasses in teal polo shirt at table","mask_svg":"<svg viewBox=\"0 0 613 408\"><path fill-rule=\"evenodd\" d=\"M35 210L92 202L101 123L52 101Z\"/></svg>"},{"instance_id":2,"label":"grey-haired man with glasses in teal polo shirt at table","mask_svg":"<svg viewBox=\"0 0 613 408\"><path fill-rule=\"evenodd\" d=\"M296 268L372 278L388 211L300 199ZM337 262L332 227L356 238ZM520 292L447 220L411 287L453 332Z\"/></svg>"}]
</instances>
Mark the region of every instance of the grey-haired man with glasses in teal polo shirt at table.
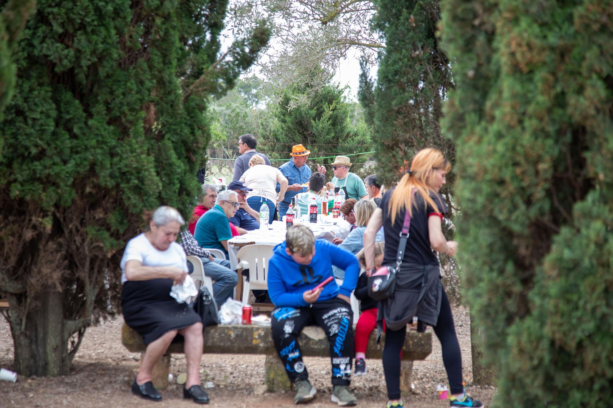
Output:
<instances>
[{"instance_id":1,"label":"grey-haired man with glasses in teal polo shirt at table","mask_svg":"<svg viewBox=\"0 0 613 408\"><path fill-rule=\"evenodd\" d=\"M232 238L228 219L233 217L240 204L236 192L222 191L215 206L208 210L196 224L194 238L202 248L221 249L228 254L228 240Z\"/></svg>"}]
</instances>

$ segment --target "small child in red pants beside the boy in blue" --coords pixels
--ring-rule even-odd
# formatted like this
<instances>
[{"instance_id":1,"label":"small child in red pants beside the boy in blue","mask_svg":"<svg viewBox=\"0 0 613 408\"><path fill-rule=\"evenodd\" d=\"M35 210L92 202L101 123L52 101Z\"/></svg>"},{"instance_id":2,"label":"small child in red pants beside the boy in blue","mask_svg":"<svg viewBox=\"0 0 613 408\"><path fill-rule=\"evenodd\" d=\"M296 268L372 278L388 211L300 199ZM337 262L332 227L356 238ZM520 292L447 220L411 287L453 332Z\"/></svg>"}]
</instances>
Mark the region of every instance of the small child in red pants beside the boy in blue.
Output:
<instances>
[{"instance_id":1,"label":"small child in red pants beside the boy in blue","mask_svg":"<svg viewBox=\"0 0 613 408\"><path fill-rule=\"evenodd\" d=\"M383 263L383 242L375 243L375 266L379 268ZM360 266L366 268L366 261L364 260L364 249L357 255L357 259L360 261ZM368 275L362 273L357 279L356 292L354 292L356 298L360 300L360 319L357 320L356 334L354 336L356 342L356 372L355 376L364 376L366 374L366 347L368 346L368 339L370 333L377 327L377 306L378 301L371 299L368 296ZM385 328L385 325L384 325Z\"/></svg>"}]
</instances>

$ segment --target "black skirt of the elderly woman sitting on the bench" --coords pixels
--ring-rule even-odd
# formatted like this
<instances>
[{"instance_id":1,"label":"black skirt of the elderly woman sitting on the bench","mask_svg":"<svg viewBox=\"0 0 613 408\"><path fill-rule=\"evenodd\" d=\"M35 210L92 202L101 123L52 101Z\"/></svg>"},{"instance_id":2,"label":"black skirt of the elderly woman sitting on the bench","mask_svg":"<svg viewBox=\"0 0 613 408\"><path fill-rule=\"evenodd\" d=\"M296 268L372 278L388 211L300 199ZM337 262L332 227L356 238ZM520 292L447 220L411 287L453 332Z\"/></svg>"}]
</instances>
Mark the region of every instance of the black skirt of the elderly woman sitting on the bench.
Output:
<instances>
[{"instance_id":1,"label":"black skirt of the elderly woman sitting on the bench","mask_svg":"<svg viewBox=\"0 0 613 408\"><path fill-rule=\"evenodd\" d=\"M149 345L170 330L180 330L202 322L187 303L170 296L172 279L128 281L121 290L121 311L126 324ZM177 336L174 341L182 339Z\"/></svg>"}]
</instances>

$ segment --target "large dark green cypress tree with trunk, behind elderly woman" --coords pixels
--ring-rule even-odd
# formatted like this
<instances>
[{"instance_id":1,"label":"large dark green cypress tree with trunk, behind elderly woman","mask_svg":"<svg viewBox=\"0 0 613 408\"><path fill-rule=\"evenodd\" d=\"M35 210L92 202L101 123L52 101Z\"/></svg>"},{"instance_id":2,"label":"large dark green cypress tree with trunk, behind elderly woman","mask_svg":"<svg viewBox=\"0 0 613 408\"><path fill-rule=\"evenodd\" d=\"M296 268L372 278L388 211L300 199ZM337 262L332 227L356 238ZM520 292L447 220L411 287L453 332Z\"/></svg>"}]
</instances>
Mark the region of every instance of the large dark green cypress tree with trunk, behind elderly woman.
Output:
<instances>
[{"instance_id":1,"label":"large dark green cypress tree with trunk, behind elderly woman","mask_svg":"<svg viewBox=\"0 0 613 408\"><path fill-rule=\"evenodd\" d=\"M92 317L116 312L122 249L143 210L189 214L207 97L269 36L257 28L217 61L226 7L37 1L0 123L0 297L20 374L69 374Z\"/></svg>"}]
</instances>

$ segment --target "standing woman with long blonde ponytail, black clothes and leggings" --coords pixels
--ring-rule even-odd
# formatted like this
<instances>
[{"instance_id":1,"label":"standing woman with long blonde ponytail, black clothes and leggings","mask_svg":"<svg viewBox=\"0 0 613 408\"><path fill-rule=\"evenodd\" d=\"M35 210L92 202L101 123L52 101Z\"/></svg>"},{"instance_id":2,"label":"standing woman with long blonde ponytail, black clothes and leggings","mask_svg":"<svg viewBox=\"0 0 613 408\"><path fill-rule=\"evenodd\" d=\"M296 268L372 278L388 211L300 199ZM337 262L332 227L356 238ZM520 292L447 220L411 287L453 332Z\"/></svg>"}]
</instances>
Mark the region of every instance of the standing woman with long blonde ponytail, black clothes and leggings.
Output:
<instances>
[{"instance_id":1,"label":"standing woman with long blonde ponytail, black clothes and leggings","mask_svg":"<svg viewBox=\"0 0 613 408\"><path fill-rule=\"evenodd\" d=\"M455 334L451 306L440 281L440 265L434 251L454 256L457 243L447 241L441 224L447 206L439 191L445 184L451 164L441 151L428 148L417 152L411 169L398 185L387 192L368 222L364 233L367 272L375 266L375 235L383 226L385 251L383 265L394 265L406 211L410 214L409 235L397 273L394 295L379 303L379 333L386 325L383 371L387 385L387 406L402 407L400 399L400 359L406 324L419 319L419 327L434 327L441 341L443 363L449 379L452 407L481 407L466 396L462 385L462 355Z\"/></svg>"}]
</instances>

